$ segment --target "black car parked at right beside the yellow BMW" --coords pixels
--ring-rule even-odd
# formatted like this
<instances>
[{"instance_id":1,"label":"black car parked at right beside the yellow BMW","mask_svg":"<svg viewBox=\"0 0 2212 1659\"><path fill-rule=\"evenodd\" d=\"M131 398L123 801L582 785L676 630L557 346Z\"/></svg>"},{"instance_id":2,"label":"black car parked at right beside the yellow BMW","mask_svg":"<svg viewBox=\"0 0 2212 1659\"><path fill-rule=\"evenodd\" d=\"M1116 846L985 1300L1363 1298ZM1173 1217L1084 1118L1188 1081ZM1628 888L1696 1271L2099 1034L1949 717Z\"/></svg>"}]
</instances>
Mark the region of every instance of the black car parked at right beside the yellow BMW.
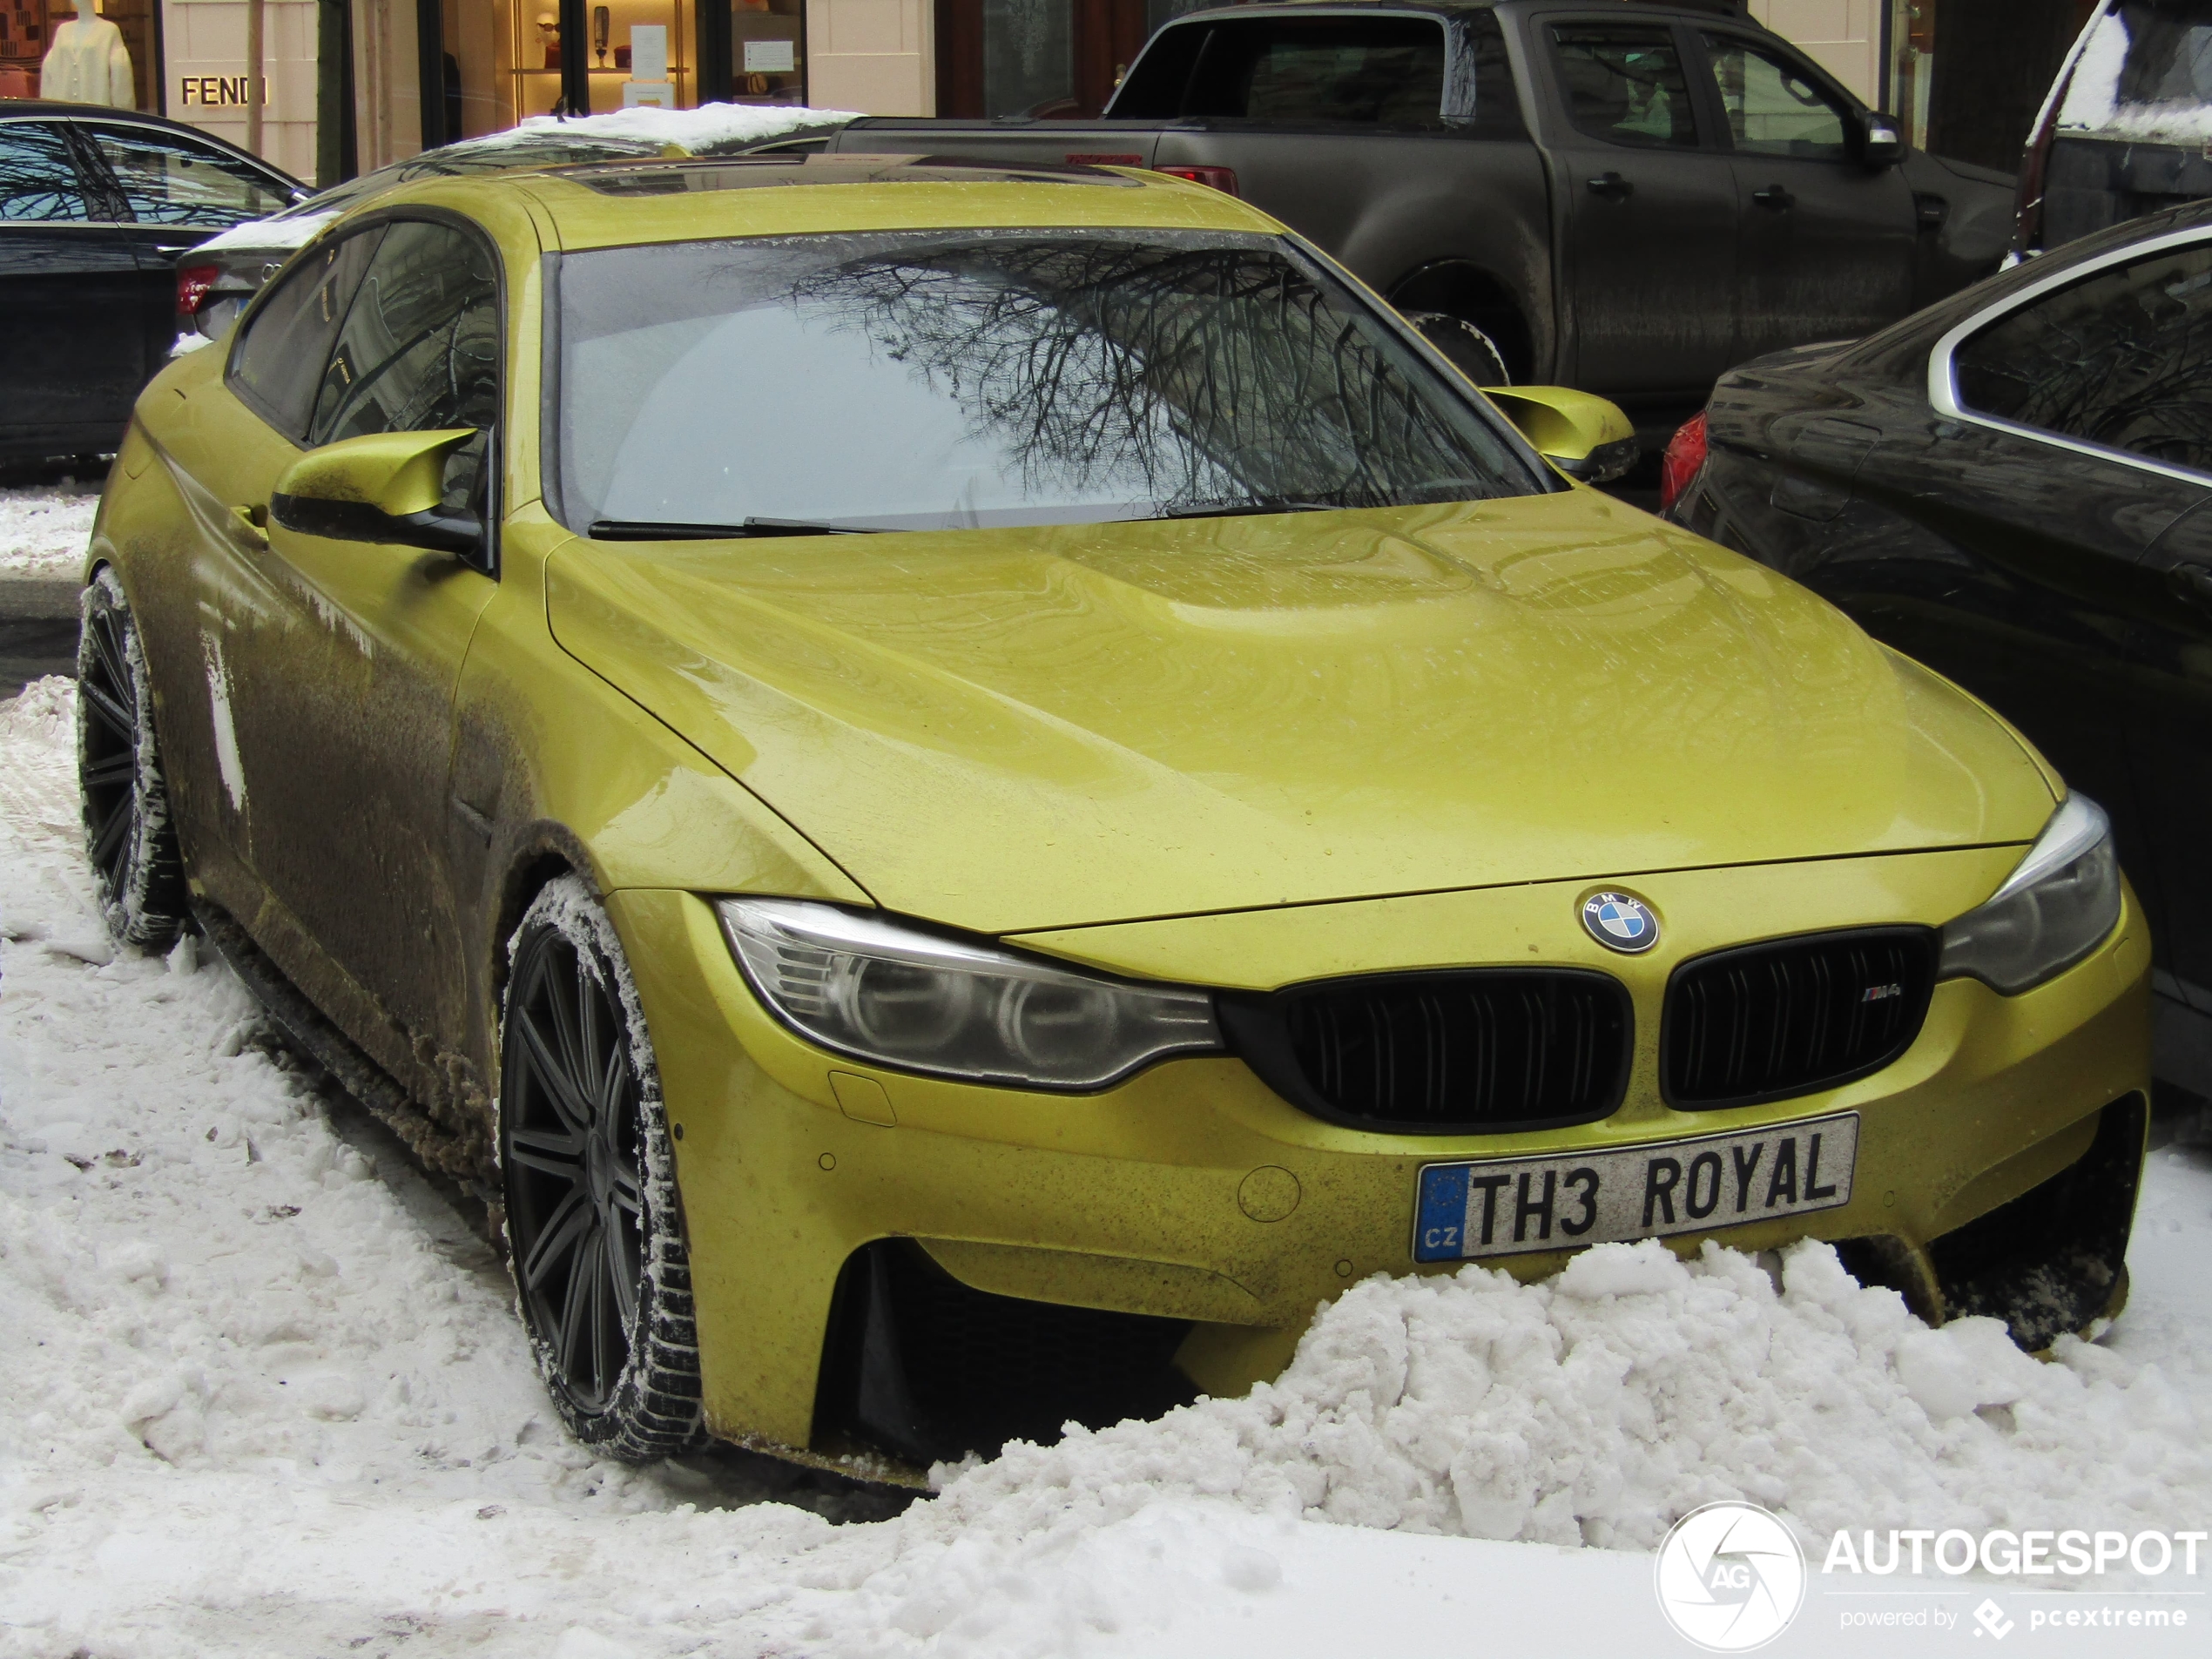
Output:
<instances>
[{"instance_id":1,"label":"black car parked at right beside the yellow BMW","mask_svg":"<svg viewBox=\"0 0 2212 1659\"><path fill-rule=\"evenodd\" d=\"M1745 363L1699 420L1677 522L1980 695L2112 814L2159 1075L2212 1095L2212 201Z\"/></svg>"}]
</instances>

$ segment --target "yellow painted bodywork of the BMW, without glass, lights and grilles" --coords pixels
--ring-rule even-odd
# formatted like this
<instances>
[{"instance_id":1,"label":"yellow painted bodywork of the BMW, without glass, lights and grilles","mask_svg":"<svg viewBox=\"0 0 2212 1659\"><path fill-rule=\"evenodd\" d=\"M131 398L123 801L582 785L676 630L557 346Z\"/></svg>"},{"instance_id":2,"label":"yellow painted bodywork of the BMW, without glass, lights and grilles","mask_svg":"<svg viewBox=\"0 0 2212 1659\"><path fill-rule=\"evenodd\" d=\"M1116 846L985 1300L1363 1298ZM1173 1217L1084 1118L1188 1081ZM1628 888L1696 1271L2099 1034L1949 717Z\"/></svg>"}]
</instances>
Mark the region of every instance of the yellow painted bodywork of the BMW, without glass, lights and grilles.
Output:
<instances>
[{"instance_id":1,"label":"yellow painted bodywork of the BMW, without glass, lights and grilles","mask_svg":"<svg viewBox=\"0 0 2212 1659\"><path fill-rule=\"evenodd\" d=\"M504 259L500 577L252 544L234 509L265 504L299 449L228 394L219 352L139 400L137 471L111 480L93 560L148 626L192 880L425 1097L451 1086L456 1110L482 1110L449 1079L495 1068L515 874L573 860L597 883L684 1124L719 1431L805 1444L838 1267L889 1234L1002 1294L1194 1318L1183 1367L1234 1391L1281 1367L1316 1303L1413 1267L1425 1161L1851 1108L1847 1208L1719 1237L1880 1232L1918 1250L2148 1088L2150 951L2130 896L2112 940L2026 995L1940 984L1913 1048L1874 1077L1759 1108L1666 1106L1672 967L1781 933L1940 925L2004 880L2059 785L2002 721L1820 599L1590 491L717 544L593 544L538 498L546 250L900 226L1270 230L1252 208L1168 181L611 197L557 175L422 181L376 206L409 204L476 217ZM274 891L259 801L228 814L215 781L204 637L230 641L232 697L261 719L330 641L372 675L442 677L451 719L411 761L447 807L411 854L451 929L427 951L436 1006L365 984ZM327 805L338 821L354 803ZM1595 883L1652 905L1657 949L1590 942L1577 898ZM732 891L876 902L1190 984L1597 967L1635 1006L1628 1097L1548 1133L1402 1137L1307 1117L1230 1057L1077 1097L891 1073L763 1013L708 902Z\"/></svg>"}]
</instances>

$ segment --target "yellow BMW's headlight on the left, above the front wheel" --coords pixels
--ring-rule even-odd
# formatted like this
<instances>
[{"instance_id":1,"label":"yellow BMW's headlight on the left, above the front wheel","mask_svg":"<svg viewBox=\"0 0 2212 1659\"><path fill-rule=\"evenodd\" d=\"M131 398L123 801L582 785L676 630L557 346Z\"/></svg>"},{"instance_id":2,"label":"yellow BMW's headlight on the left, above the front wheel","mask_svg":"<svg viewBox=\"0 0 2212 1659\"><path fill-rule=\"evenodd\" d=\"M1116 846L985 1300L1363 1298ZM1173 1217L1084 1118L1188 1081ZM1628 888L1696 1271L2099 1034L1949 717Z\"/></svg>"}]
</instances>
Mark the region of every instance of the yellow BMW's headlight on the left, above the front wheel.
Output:
<instances>
[{"instance_id":1,"label":"yellow BMW's headlight on the left, above the front wheel","mask_svg":"<svg viewBox=\"0 0 2212 1659\"><path fill-rule=\"evenodd\" d=\"M1108 980L794 898L721 898L714 911L776 1018L900 1071L1099 1088L1148 1060L1221 1046L1206 991Z\"/></svg>"}]
</instances>

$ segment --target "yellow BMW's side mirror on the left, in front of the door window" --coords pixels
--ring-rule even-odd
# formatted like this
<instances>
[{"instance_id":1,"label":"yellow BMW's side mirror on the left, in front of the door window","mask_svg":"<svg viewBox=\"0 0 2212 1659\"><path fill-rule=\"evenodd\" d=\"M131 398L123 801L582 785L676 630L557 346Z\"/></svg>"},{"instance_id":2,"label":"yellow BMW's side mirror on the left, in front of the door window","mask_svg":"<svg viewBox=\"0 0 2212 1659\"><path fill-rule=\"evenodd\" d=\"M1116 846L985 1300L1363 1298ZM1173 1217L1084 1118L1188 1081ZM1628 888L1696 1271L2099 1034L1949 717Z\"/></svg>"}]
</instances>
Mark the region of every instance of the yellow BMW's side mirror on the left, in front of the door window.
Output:
<instances>
[{"instance_id":1,"label":"yellow BMW's side mirror on the left, in front of the door window","mask_svg":"<svg viewBox=\"0 0 2212 1659\"><path fill-rule=\"evenodd\" d=\"M310 449L276 480L270 520L332 542L420 546L469 557L482 546L484 520L442 504L445 462L480 436L476 427L372 431Z\"/></svg>"}]
</instances>

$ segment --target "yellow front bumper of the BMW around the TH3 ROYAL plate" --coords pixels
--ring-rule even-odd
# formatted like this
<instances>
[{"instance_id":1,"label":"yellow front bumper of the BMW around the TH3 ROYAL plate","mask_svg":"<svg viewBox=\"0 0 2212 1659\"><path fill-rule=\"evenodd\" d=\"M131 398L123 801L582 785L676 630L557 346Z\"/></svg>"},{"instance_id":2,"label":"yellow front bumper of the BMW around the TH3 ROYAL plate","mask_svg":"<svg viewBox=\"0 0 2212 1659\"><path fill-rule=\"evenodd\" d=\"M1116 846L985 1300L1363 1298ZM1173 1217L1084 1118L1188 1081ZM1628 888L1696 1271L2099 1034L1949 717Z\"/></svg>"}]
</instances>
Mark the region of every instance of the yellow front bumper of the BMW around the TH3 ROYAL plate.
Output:
<instances>
[{"instance_id":1,"label":"yellow front bumper of the BMW around the TH3 ROYAL plate","mask_svg":"<svg viewBox=\"0 0 2212 1659\"><path fill-rule=\"evenodd\" d=\"M2081 1159L2108 1102L2148 1097L2150 949L2135 896L2106 945L2057 980L2020 998L1942 982L1898 1062L1801 1099L1666 1106L1661 998L1677 962L1723 945L1938 925L1993 891L2017 858L2020 847L1984 847L1628 878L1666 922L1641 958L1601 951L1575 925L1586 883L1022 940L1124 973L1252 989L1460 962L1597 967L1628 984L1637 1048L1617 1113L1451 1137L1325 1124L1230 1057L1166 1062L1077 1097L849 1062L763 1013L701 898L611 894L681 1126L708 1422L730 1438L810 1444L838 1276L872 1241L911 1239L956 1281L1000 1296L1192 1321L1181 1369L1212 1394L1237 1394L1281 1369L1316 1303L1367 1274L1416 1270L1422 1164L1635 1146L1829 1110L1860 1113L1851 1201L1710 1237L1739 1250L1889 1241L1902 1287L1940 1316L1929 1243ZM1670 1245L1694 1250L1703 1237ZM1564 1259L1498 1265L1535 1279Z\"/></svg>"}]
</instances>

